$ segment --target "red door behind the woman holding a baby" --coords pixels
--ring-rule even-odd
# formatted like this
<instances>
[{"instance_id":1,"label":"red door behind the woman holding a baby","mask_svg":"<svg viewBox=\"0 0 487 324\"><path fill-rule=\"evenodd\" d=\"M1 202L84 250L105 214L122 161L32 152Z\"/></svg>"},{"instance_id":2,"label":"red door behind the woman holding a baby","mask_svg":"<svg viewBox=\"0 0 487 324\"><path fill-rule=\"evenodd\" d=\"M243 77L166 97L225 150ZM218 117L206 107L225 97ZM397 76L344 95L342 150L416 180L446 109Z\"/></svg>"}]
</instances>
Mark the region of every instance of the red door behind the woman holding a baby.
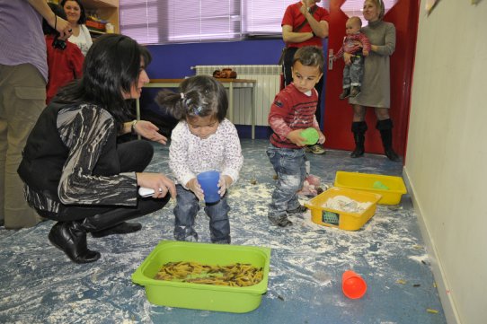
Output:
<instances>
[{"instance_id":1,"label":"red door behind the woman holding a baby","mask_svg":"<svg viewBox=\"0 0 487 324\"><path fill-rule=\"evenodd\" d=\"M341 11L346 0L330 2L330 36L328 49L336 53L341 48L345 35L345 22L348 16ZM357 3L360 11L363 1ZM398 0L385 13L384 21L393 22L396 30L395 51L391 57L391 109L389 114L394 122L394 150L404 155L406 151L409 124L412 69L418 29L419 0ZM387 8L387 5L385 5ZM355 9L355 8L354 8ZM357 14L353 14L357 15ZM350 131L352 109L347 100L339 100L343 60L333 62L327 71L326 92L324 96L323 129L326 136L325 146L332 149L351 151L355 147ZM384 153L380 134L376 130L374 109L367 109L366 152Z\"/></svg>"}]
</instances>

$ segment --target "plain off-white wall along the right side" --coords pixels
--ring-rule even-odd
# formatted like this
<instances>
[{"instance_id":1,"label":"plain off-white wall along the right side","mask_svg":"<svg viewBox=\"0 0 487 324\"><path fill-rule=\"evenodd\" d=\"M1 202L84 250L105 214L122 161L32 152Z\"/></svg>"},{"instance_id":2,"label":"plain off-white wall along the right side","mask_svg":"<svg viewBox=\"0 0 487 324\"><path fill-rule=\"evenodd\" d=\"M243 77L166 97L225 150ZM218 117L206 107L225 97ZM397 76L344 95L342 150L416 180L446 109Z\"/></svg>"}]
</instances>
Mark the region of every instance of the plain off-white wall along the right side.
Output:
<instances>
[{"instance_id":1,"label":"plain off-white wall along the right side","mask_svg":"<svg viewBox=\"0 0 487 324\"><path fill-rule=\"evenodd\" d=\"M421 0L404 176L449 323L487 318L487 0Z\"/></svg>"}]
</instances>

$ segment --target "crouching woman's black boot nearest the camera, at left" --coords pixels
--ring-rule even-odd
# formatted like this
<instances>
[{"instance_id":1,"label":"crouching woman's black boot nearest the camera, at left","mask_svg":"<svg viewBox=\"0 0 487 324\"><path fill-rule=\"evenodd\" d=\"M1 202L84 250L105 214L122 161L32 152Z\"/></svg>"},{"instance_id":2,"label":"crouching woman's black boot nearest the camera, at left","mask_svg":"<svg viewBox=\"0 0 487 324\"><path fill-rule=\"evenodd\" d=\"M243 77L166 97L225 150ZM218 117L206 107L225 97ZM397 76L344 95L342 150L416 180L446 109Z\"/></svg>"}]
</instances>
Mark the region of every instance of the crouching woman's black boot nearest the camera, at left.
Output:
<instances>
[{"instance_id":1,"label":"crouching woman's black boot nearest the camera, at left","mask_svg":"<svg viewBox=\"0 0 487 324\"><path fill-rule=\"evenodd\" d=\"M63 250L75 263L90 263L100 258L100 253L88 250L86 230L78 222L58 222L49 232L49 241Z\"/></svg>"}]
</instances>

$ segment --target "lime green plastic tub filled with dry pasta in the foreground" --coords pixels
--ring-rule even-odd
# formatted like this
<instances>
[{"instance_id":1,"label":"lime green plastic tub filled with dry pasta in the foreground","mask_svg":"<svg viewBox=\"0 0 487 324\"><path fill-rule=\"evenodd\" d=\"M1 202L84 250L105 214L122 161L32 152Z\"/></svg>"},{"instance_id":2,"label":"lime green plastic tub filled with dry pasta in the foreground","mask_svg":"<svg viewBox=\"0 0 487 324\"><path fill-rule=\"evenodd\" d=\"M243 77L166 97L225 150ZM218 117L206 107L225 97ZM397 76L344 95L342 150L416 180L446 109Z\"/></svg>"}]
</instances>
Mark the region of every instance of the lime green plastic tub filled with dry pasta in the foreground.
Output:
<instances>
[{"instance_id":1,"label":"lime green plastic tub filled with dry pasta in the foreground","mask_svg":"<svg viewBox=\"0 0 487 324\"><path fill-rule=\"evenodd\" d=\"M263 268L263 278L257 285L230 287L201 285L154 279L158 270L168 262L193 261L211 266L250 263ZM137 267L132 281L146 288L147 301L162 306L206 311L247 312L261 304L267 292L270 249L252 246L206 244L185 241L161 241Z\"/></svg>"}]
</instances>

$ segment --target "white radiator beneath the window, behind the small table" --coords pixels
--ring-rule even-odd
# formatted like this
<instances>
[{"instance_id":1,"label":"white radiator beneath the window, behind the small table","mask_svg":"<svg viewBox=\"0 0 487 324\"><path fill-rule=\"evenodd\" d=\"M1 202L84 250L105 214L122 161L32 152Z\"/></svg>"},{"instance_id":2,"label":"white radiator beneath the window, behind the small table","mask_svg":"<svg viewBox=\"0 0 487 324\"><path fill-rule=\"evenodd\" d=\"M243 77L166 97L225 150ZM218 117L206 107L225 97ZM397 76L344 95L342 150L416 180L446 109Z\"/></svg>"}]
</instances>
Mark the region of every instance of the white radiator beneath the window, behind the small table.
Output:
<instances>
[{"instance_id":1,"label":"white radiator beneath the window, behind the small table","mask_svg":"<svg viewBox=\"0 0 487 324\"><path fill-rule=\"evenodd\" d=\"M237 79L257 80L255 86L255 125L267 126L270 104L279 92L281 66L194 66L197 75L212 75L215 70L231 68ZM234 91L234 124L252 124L252 91L248 88Z\"/></svg>"}]
</instances>

